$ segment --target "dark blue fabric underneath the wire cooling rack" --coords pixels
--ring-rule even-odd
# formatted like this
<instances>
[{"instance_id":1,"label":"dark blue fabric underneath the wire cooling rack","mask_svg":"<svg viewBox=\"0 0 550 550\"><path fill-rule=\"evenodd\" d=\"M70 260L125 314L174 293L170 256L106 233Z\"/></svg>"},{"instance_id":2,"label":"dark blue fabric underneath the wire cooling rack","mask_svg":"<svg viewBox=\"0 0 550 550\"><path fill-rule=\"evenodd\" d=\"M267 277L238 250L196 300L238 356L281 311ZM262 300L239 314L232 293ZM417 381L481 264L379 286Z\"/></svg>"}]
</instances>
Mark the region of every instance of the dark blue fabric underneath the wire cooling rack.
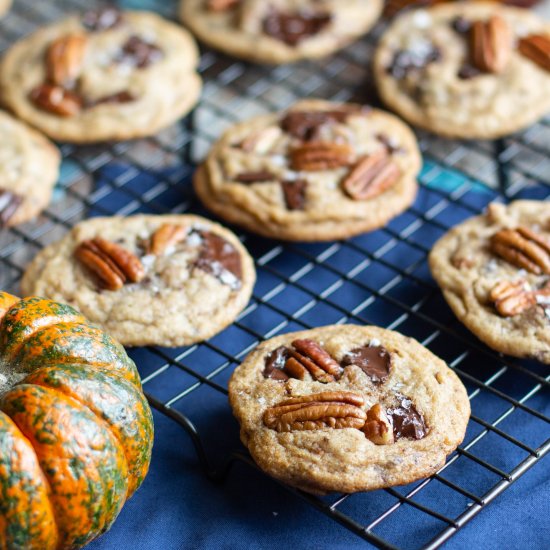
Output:
<instances>
[{"instance_id":1,"label":"dark blue fabric underneath the wire cooling rack","mask_svg":"<svg viewBox=\"0 0 550 550\"><path fill-rule=\"evenodd\" d=\"M207 214L193 201L189 185L191 170L167 169L159 173L141 172L132 178L121 178L124 185L118 189L108 189L117 176L124 174L128 167L114 162L102 172L105 179L97 182L96 207L89 215L114 213L129 202L130 190L145 194L159 181L177 181L164 193L155 196L148 205L135 203L134 212L169 211L175 204L190 201L190 211ZM455 223L469 217L472 208L482 208L495 198L494 193L475 182L465 182L460 174L446 170L444 173L436 167L426 164L421 179L424 187L411 211L393 220L388 229L376 231L352 240L356 249L342 247L327 258L322 265L299 280L301 289L290 286L269 300L270 304L289 313L296 312L311 301L311 292L321 292L339 278L328 268L337 268L343 272L357 265L366 253L380 250L392 235L410 226L418 219L418 212L427 212L441 203L448 193L468 185L461 196L461 205L449 203L448 207L434 215L434 223L424 224L408 237L408 241L398 243L382 256L382 262L373 262L353 279L368 288L379 289L393 276L391 266L410 268L414 262L417 268L412 271L420 280L433 284L425 265L424 254L419 252L415 243L429 247L444 231ZM67 172L70 166L65 166ZM437 174L434 176L434 174ZM446 176L446 177L445 177ZM110 183L109 183L110 182ZM109 191L109 192L106 192ZM522 191L523 196L541 195L539 187L533 186ZM545 195L544 195L545 196ZM541 196L543 198L543 196ZM441 224L439 227L436 224ZM270 250L272 241L246 236L246 245L256 255ZM258 284L255 295L264 296L272 288L280 285L281 277L295 273L303 264L302 253L315 255L328 245L302 245L289 247L278 257L270 260L265 267L258 266ZM267 267L270 270L267 270ZM388 291L388 295L405 303L414 304L426 293L412 280L403 281ZM339 308L354 308L367 297L365 287L357 287L353 281L346 282L341 290L335 291L326 300L316 303L313 308L300 314L297 321L289 324L284 331L300 329L336 322L342 316ZM352 318L352 322L369 322L384 325L392 322L400 314L397 306L386 300L375 300L364 315ZM421 312L437 319L443 326L453 330L472 342L471 335L454 318L444 303L439 291L423 305ZM240 324L249 326L259 333L272 330L283 316L264 305ZM399 330L423 340L433 333L434 327L420 318L411 317L399 325ZM182 363L187 367L207 375L224 363L221 352L239 353L255 343L254 337L236 326L229 327L210 341L213 347L199 346L187 353ZM468 345L468 344L466 344ZM449 363L456 361L465 344L461 340L445 334L430 341L429 347ZM171 358L181 356L184 349L165 350ZM189 351L189 350L187 350ZM165 361L148 349L133 349L131 355L139 366L142 377L155 372ZM229 365L212 380L226 387L228 378L235 365ZM459 368L466 374L464 378L469 392L478 386L469 380L486 380L501 368L498 360L489 360L482 351L471 351L467 359L459 362ZM527 364L527 368L540 375L547 375L548 368L536 364ZM196 379L176 367L170 367L146 384L146 389L160 400L168 400L191 388ZM534 385L533 379L521 371L510 370L493 383L493 387L515 399L520 399ZM550 400L548 390L539 391L526 401L526 405L535 411L548 415ZM218 390L202 386L190 392L175 404L175 408L186 414L197 426L206 447L209 458L216 463L223 462L231 451L240 448L238 427L233 419L227 399ZM523 411L514 411L506 416L510 403L498 395L482 390L472 400L473 414L485 422L494 422L504 418L498 427L532 448L537 448L550 436L548 424L534 415ZM133 547L135 549L180 549L180 548L311 548L365 547L362 539L341 527L304 503L295 495L270 480L251 466L237 462L229 472L225 482L214 484L209 481L198 466L191 440L186 432L173 421L155 412L156 437L151 471L143 487L122 511L112 530L98 541L92 543L96 550ZM483 426L474 420L470 422L465 444L473 441L483 432ZM481 438L470 451L480 460L484 460L505 472L510 472L528 456L520 447L505 438L490 433ZM219 466L219 464L215 464ZM449 548L548 548L550 545L549 495L550 461L548 457L540 461L496 501L483 510L465 528L460 530L448 543ZM481 497L498 481L499 476L474 461L460 457L443 472L443 477ZM415 484L398 488L406 494ZM327 497L333 502L335 497ZM447 517L455 518L468 509L469 499L452 491L438 481L432 481L414 498L420 504L428 506ZM362 524L368 524L397 502L395 496L385 492L363 493L351 496L338 510ZM374 533L388 542L403 548L418 548L428 543L445 524L409 505L401 506L390 515Z\"/></svg>"}]
</instances>

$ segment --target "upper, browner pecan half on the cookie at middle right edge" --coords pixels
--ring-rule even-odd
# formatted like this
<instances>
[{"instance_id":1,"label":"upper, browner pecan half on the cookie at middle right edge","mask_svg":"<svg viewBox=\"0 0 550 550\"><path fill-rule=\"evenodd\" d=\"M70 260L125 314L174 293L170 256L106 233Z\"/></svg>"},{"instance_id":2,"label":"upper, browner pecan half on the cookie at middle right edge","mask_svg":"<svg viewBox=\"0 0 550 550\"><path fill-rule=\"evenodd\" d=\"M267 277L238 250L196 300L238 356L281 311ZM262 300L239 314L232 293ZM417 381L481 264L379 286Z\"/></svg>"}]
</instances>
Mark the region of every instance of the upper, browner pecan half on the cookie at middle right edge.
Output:
<instances>
[{"instance_id":1,"label":"upper, browner pecan half on the cookie at middle right edge","mask_svg":"<svg viewBox=\"0 0 550 550\"><path fill-rule=\"evenodd\" d=\"M528 227L501 229L490 240L491 251L536 275L550 274L550 239Z\"/></svg>"}]
</instances>

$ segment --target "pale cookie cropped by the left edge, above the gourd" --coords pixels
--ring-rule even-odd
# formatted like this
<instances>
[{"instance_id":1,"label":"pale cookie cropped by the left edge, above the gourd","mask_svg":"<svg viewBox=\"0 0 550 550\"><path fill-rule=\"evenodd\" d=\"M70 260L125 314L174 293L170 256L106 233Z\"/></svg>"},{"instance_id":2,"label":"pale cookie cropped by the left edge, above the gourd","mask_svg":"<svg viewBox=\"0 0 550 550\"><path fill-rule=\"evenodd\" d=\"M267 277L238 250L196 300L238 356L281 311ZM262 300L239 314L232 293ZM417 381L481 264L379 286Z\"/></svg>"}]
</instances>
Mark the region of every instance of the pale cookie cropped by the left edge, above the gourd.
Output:
<instances>
[{"instance_id":1,"label":"pale cookie cropped by the left edge, above the gourd","mask_svg":"<svg viewBox=\"0 0 550 550\"><path fill-rule=\"evenodd\" d=\"M44 136L0 111L0 228L37 216L50 202L61 156Z\"/></svg>"}]
</instances>

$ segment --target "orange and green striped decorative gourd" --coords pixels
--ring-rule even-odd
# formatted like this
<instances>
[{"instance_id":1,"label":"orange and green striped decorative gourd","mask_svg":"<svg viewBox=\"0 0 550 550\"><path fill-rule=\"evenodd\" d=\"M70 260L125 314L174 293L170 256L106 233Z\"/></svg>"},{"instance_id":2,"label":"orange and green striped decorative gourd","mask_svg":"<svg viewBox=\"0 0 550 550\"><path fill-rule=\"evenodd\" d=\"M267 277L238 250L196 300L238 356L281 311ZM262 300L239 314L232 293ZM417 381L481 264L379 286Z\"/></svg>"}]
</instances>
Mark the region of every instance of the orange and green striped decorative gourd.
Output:
<instances>
[{"instance_id":1,"label":"orange and green striped decorative gourd","mask_svg":"<svg viewBox=\"0 0 550 550\"><path fill-rule=\"evenodd\" d=\"M0 292L0 549L76 548L104 533L152 444L124 348L67 305Z\"/></svg>"}]
</instances>

